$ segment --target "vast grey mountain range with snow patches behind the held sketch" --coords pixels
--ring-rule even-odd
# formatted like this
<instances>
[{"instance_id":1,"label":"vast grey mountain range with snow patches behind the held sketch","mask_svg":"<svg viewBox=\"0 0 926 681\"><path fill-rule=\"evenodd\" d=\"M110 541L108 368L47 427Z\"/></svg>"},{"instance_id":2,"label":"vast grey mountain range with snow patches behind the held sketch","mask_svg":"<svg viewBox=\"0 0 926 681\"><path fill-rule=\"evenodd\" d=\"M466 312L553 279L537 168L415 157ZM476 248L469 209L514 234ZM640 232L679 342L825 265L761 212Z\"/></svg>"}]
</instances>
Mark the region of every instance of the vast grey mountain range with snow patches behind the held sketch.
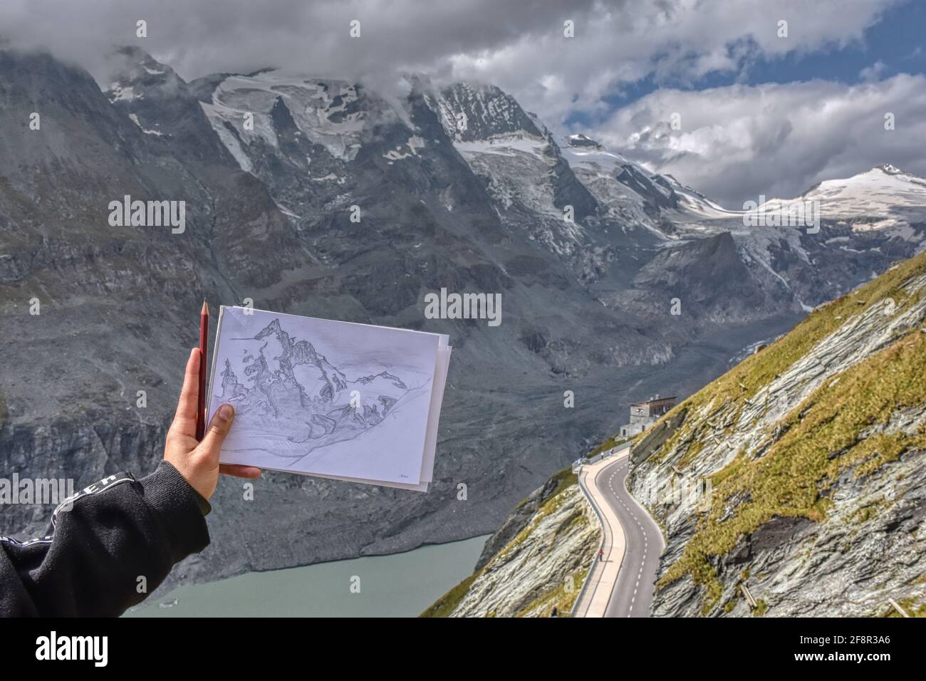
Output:
<instances>
[{"instance_id":1,"label":"vast grey mountain range with snow patches behind the held sketch","mask_svg":"<svg viewBox=\"0 0 926 681\"><path fill-rule=\"evenodd\" d=\"M272 70L184 82L137 48L114 59L101 88L54 57L0 50L4 474L82 485L152 470L203 297L426 329L456 348L428 495L265 473L251 501L226 480L212 546L172 580L492 531L628 403L690 394L789 328L798 300L921 245L922 187L900 175L903 224L882 193L816 238L748 230L594 141L557 141L491 86L415 78L387 97ZM126 195L185 202L184 230L110 224ZM857 230L866 210L895 222ZM502 324L425 319L423 296L442 287L502 294ZM697 295L672 316L679 291ZM0 523L30 536L50 512L4 508Z\"/></svg>"}]
</instances>

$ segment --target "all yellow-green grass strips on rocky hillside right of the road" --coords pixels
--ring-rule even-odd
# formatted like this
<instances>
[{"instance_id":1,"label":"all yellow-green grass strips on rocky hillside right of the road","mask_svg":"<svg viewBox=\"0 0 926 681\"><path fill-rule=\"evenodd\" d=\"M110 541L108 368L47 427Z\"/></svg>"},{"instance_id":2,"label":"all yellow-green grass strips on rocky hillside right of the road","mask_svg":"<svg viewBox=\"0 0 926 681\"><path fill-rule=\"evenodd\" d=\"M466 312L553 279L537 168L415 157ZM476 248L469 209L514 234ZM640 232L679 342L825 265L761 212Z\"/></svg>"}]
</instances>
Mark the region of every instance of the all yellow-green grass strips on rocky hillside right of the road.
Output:
<instances>
[{"instance_id":1,"label":"all yellow-green grass strips on rocky hillside right of the road","mask_svg":"<svg viewBox=\"0 0 926 681\"><path fill-rule=\"evenodd\" d=\"M770 347L746 359L732 371L688 398L675 410L687 409L688 422L654 456L664 456L681 438L693 438L686 460L697 456L702 429L711 417L733 406L738 417L745 399L755 397L781 372L835 331L853 315L883 298L895 300L895 314L915 302L901 286L911 277L926 273L926 253L885 272L881 277L815 310ZM919 297L921 294L916 294ZM726 554L740 535L754 532L774 516L826 517L823 497L832 481L848 469L862 476L905 451L926 447L926 433L874 435L861 438L866 428L886 423L891 413L907 406L926 404L926 334L913 330L869 359L825 382L780 422L784 435L758 460L738 456L711 478L720 503L699 519L698 530L657 586L691 574L706 586L705 612L720 597L720 582L709 558ZM675 411L673 410L673 411ZM705 415L702 414L705 410ZM672 414L669 412L667 418ZM694 418L693 418L694 415ZM733 419L733 423L737 418ZM837 456L832 456L838 453ZM732 516L720 522L730 498L747 498Z\"/></svg>"}]
</instances>

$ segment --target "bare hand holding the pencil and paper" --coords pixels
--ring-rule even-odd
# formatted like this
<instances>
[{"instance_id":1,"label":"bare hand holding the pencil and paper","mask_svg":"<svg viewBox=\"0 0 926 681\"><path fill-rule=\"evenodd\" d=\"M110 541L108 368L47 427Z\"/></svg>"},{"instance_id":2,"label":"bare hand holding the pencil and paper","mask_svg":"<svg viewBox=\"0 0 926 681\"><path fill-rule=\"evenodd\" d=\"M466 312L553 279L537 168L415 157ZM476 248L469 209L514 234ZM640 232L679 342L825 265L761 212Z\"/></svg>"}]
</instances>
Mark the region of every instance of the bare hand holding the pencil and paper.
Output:
<instances>
[{"instance_id":1,"label":"bare hand holding the pencil and paper","mask_svg":"<svg viewBox=\"0 0 926 681\"><path fill-rule=\"evenodd\" d=\"M212 417L202 442L196 441L196 403L199 398L199 361L202 355L198 347L190 353L183 374L180 403L173 423L170 424L164 459L176 468L204 498L210 498L219 485L219 473L242 478L260 477L260 469L254 466L219 464L219 449L234 421L234 408L223 404Z\"/></svg>"}]
</instances>

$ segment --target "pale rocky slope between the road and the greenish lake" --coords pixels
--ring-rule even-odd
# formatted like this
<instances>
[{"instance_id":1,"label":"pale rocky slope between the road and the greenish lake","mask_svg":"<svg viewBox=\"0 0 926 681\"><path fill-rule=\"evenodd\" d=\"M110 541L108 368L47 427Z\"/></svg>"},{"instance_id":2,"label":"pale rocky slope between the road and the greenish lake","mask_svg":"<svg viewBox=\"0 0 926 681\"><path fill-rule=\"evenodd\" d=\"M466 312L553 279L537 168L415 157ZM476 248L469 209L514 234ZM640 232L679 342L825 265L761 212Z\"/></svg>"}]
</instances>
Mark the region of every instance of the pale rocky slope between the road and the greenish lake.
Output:
<instances>
[{"instance_id":1,"label":"pale rocky slope between the road and the greenish lake","mask_svg":"<svg viewBox=\"0 0 926 681\"><path fill-rule=\"evenodd\" d=\"M569 614L601 528L574 474L557 473L486 542L476 572L425 616L548 617Z\"/></svg>"}]
</instances>

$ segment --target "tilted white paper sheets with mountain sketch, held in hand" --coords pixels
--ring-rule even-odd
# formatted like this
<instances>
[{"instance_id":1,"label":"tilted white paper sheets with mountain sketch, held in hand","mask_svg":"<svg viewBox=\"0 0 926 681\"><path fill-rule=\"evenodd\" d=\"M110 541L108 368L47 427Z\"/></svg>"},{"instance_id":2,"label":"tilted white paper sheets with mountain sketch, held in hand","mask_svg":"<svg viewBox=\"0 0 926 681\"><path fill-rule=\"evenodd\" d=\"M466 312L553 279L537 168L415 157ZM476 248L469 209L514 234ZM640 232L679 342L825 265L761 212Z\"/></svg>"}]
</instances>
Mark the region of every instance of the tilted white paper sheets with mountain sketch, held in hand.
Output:
<instances>
[{"instance_id":1,"label":"tilted white paper sheets with mountain sketch, held in hand","mask_svg":"<svg viewBox=\"0 0 926 681\"><path fill-rule=\"evenodd\" d=\"M427 491L451 347L444 334L222 307L210 422L222 463Z\"/></svg>"}]
</instances>

